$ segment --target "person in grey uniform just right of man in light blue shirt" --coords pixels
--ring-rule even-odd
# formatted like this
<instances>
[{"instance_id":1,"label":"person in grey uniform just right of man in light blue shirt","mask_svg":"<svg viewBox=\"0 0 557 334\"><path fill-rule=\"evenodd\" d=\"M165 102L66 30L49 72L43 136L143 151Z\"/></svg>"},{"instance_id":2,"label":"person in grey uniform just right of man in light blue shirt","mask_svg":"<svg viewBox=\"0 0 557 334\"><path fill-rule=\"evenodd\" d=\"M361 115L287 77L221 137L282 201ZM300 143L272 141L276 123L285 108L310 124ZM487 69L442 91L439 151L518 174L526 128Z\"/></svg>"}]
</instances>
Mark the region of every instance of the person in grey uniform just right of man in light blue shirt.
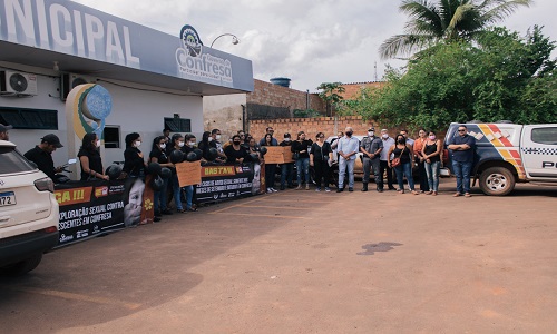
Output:
<instances>
[{"instance_id":1,"label":"person in grey uniform just right of man in light blue shirt","mask_svg":"<svg viewBox=\"0 0 557 334\"><path fill-rule=\"evenodd\" d=\"M383 193L383 177L380 175L379 165L380 156L383 150L383 141L375 137L375 129L368 129L368 137L362 139L360 151L363 157L363 187L362 191L368 191L368 183L370 181L370 169L373 168L375 177L375 187L379 193Z\"/></svg>"}]
</instances>

